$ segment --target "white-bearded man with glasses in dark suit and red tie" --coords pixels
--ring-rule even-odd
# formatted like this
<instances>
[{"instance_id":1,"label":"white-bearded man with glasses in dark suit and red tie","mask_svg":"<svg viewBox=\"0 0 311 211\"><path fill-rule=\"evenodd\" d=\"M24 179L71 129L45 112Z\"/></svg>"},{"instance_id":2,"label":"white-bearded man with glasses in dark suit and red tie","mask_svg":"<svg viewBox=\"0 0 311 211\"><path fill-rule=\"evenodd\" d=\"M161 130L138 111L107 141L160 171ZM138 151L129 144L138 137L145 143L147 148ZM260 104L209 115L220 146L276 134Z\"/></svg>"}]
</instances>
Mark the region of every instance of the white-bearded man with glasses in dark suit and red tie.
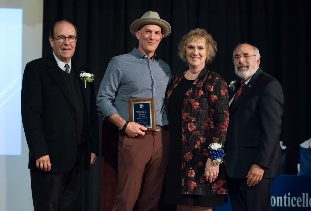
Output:
<instances>
[{"instance_id":1,"label":"white-bearded man with glasses in dark suit and red tie","mask_svg":"<svg viewBox=\"0 0 311 211\"><path fill-rule=\"evenodd\" d=\"M280 83L259 67L259 50L233 51L235 94L230 101L226 140L227 184L234 211L271 210L271 183L281 168L279 137L283 115Z\"/></svg>"}]
</instances>

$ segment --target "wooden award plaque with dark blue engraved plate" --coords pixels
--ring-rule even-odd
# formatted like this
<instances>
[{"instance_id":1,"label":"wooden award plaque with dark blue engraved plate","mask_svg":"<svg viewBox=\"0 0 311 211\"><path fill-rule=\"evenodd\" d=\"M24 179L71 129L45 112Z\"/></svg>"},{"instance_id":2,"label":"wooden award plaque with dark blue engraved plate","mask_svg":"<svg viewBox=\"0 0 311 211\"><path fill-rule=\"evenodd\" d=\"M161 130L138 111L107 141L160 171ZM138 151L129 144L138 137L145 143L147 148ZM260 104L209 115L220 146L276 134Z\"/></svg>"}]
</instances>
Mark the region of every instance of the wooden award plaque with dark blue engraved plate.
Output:
<instances>
[{"instance_id":1,"label":"wooden award plaque with dark blue engraved plate","mask_svg":"<svg viewBox=\"0 0 311 211\"><path fill-rule=\"evenodd\" d=\"M147 128L156 130L155 98L128 99L128 115L130 122L136 122Z\"/></svg>"}]
</instances>

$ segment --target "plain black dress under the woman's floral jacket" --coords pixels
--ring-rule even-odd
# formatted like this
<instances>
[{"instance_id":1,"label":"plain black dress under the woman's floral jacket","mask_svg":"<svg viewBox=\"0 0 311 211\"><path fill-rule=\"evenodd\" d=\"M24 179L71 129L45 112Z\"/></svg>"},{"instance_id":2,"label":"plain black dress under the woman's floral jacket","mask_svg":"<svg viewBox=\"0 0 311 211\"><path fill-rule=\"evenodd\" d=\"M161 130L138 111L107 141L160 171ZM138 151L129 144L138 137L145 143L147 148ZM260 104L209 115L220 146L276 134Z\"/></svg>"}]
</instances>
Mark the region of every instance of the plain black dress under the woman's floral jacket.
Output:
<instances>
[{"instance_id":1,"label":"plain black dress under the woman's floral jacket","mask_svg":"<svg viewBox=\"0 0 311 211\"><path fill-rule=\"evenodd\" d=\"M188 206L214 207L228 202L227 195L186 195L181 194L182 164L182 119L183 98L194 80L185 77L170 96L167 111L169 119L170 145L165 182L165 203Z\"/></svg>"}]
</instances>

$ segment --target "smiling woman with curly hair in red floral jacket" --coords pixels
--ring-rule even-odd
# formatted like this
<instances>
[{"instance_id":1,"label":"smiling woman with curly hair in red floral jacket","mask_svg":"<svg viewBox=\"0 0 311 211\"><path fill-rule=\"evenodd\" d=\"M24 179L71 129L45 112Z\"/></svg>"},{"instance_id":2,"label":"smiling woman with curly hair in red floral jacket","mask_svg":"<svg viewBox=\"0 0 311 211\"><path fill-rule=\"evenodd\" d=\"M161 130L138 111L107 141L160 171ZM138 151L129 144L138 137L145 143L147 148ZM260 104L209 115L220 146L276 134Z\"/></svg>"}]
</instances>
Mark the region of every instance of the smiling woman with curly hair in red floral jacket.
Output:
<instances>
[{"instance_id":1,"label":"smiling woman with curly hair in red floral jacket","mask_svg":"<svg viewBox=\"0 0 311 211\"><path fill-rule=\"evenodd\" d=\"M167 92L170 149L165 202L183 210L211 210L227 202L222 163L228 118L226 82L207 68L216 42L204 29L179 43L189 68L176 73Z\"/></svg>"}]
</instances>

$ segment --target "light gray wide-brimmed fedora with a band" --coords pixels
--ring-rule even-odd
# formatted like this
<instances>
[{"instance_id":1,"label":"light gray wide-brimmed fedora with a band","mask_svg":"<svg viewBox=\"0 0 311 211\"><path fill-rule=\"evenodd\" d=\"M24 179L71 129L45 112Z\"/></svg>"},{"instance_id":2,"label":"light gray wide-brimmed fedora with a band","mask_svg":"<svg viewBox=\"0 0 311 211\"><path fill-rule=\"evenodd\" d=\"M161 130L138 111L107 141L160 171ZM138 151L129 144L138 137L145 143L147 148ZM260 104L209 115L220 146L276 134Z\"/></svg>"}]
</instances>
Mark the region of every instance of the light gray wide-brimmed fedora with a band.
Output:
<instances>
[{"instance_id":1,"label":"light gray wide-brimmed fedora with a band","mask_svg":"<svg viewBox=\"0 0 311 211\"><path fill-rule=\"evenodd\" d=\"M132 22L130 26L130 31L132 35L136 37L135 31L137 31L139 27L146 24L156 24L161 26L163 29L164 37L167 37L172 31L172 28L169 25L169 23L166 22L165 20L160 19L160 16L157 12L148 11L142 16L142 18Z\"/></svg>"}]
</instances>

